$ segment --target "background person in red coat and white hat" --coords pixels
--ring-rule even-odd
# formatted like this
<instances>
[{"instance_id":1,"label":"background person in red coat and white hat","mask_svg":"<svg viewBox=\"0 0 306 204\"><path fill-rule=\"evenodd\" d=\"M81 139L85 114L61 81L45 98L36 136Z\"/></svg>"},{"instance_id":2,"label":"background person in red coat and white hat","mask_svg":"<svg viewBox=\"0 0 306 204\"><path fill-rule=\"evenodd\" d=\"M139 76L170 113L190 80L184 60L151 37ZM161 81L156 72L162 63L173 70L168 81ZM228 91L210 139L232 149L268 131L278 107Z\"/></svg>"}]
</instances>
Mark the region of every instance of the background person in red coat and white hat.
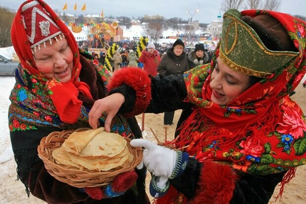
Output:
<instances>
[{"instance_id":1,"label":"background person in red coat and white hat","mask_svg":"<svg viewBox=\"0 0 306 204\"><path fill-rule=\"evenodd\" d=\"M157 75L156 68L160 62L160 56L153 43L149 43L147 49L141 51L139 62L144 64L143 70L148 75L155 77Z\"/></svg>"}]
</instances>

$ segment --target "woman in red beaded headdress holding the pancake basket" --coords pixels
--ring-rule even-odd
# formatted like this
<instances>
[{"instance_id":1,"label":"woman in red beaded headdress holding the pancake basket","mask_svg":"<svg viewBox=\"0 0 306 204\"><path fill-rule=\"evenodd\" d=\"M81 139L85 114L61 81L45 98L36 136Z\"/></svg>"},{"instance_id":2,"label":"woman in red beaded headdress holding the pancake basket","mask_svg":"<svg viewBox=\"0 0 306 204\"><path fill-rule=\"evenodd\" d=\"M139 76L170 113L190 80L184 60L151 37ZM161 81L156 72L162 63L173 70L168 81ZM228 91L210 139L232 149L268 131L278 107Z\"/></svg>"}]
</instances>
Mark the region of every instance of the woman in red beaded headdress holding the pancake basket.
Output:
<instances>
[{"instance_id":1,"label":"woman in red beaded headdress holding the pancake basket","mask_svg":"<svg viewBox=\"0 0 306 204\"><path fill-rule=\"evenodd\" d=\"M10 94L8 124L17 177L28 196L52 204L150 204L146 168L121 173L101 188L76 188L48 173L38 158L41 138L54 131L90 128L89 110L107 95L110 74L88 52L78 50L72 32L42 0L21 4L11 40L20 64ZM105 123L106 117L101 117L99 124ZM135 117L115 115L111 129L122 136L141 137Z\"/></svg>"}]
</instances>

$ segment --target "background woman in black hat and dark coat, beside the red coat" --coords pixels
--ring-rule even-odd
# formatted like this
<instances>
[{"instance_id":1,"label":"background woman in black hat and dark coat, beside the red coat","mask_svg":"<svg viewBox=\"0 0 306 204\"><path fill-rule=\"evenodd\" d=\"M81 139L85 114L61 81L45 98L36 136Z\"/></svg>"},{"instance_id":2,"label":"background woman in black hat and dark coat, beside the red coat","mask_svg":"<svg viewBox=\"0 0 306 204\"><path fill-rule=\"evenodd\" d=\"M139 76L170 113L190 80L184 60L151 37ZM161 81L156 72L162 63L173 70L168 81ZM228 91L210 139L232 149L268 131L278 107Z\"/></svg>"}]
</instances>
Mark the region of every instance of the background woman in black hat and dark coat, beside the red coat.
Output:
<instances>
[{"instance_id":1,"label":"background woman in black hat and dark coat, beside the red coat","mask_svg":"<svg viewBox=\"0 0 306 204\"><path fill-rule=\"evenodd\" d=\"M188 59L184 51L185 44L181 39L176 40L166 54L161 57L157 72L162 76L179 75L189 69ZM172 125L174 111L164 113L164 125Z\"/></svg>"}]
</instances>

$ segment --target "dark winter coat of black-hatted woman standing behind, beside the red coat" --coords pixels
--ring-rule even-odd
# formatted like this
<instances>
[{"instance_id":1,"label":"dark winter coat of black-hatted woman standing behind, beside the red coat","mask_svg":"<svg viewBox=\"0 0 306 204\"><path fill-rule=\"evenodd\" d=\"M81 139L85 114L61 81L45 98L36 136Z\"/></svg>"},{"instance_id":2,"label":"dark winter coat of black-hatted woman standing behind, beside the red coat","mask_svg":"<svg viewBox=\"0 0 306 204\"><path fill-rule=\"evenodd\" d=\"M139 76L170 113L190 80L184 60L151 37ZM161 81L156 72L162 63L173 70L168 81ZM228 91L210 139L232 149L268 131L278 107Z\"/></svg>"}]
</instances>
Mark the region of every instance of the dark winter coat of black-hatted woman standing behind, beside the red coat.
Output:
<instances>
[{"instance_id":1,"label":"dark winter coat of black-hatted woman standing behind, beside the red coat","mask_svg":"<svg viewBox=\"0 0 306 204\"><path fill-rule=\"evenodd\" d=\"M182 74L188 69L188 59L185 51L180 56L176 56L173 48L171 48L161 57L157 72L160 75L169 76Z\"/></svg>"}]
</instances>

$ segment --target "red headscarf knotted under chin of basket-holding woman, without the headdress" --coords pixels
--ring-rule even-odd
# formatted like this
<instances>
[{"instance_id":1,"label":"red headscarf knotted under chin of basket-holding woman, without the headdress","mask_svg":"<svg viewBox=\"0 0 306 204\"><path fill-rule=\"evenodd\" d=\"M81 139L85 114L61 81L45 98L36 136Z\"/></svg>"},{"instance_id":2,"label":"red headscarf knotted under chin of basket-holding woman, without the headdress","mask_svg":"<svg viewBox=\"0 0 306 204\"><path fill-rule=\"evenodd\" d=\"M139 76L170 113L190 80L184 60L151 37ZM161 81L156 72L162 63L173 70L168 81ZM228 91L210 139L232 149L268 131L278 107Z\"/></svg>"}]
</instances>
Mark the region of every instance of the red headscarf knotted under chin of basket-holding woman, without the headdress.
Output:
<instances>
[{"instance_id":1,"label":"red headscarf knotted under chin of basket-holding woman, without the headdress","mask_svg":"<svg viewBox=\"0 0 306 204\"><path fill-rule=\"evenodd\" d=\"M62 83L55 79L46 79L45 76L38 71L35 65L35 59L30 48L30 42L27 38L22 22L21 8L24 4L31 1L32 0L25 1L19 7L13 20L11 40L14 45L14 49L19 57L23 69L32 75L32 77L38 82L46 85L46 88L49 90L48 93L60 116L60 119L63 122L74 123L77 121L82 105L82 102L77 99L78 92L81 91L84 95L91 98L89 86L84 82L78 82L81 64L79 61L77 42L71 31L68 29L65 23L59 19L56 13L44 1L38 0L42 7L50 14L54 22L58 25L74 53L74 68L70 82Z\"/></svg>"}]
</instances>

